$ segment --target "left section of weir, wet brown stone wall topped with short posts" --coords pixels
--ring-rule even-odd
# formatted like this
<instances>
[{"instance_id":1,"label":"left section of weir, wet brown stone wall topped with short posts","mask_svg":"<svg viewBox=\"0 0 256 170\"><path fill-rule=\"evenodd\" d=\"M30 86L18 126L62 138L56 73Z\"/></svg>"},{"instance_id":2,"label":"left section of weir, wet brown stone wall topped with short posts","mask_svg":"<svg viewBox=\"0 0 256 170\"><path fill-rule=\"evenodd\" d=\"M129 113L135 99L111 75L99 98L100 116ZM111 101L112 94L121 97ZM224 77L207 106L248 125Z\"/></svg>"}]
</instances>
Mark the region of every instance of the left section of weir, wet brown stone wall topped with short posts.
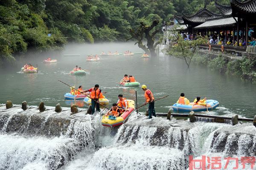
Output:
<instances>
[{"instance_id":1,"label":"left section of weir, wet brown stone wall topped with short posts","mask_svg":"<svg viewBox=\"0 0 256 170\"><path fill-rule=\"evenodd\" d=\"M71 115L70 108L29 106L26 110L22 105L13 105L6 109L5 105L0 105L0 129L6 133L23 133L39 136L60 136L67 132L67 128L72 120L86 121L86 109L79 109L77 114Z\"/></svg>"}]
</instances>

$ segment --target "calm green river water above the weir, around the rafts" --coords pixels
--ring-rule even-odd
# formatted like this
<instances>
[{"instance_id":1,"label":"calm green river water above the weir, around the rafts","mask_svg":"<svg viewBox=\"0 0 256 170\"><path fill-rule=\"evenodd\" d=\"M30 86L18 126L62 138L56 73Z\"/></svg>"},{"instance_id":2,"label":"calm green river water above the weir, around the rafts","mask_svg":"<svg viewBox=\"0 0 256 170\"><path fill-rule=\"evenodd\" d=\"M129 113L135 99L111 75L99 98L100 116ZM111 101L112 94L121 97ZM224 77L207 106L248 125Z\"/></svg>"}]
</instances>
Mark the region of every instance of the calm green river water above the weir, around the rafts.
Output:
<instances>
[{"instance_id":1,"label":"calm green river water above the weir, around the rafts","mask_svg":"<svg viewBox=\"0 0 256 170\"><path fill-rule=\"evenodd\" d=\"M70 88L58 82L60 79L76 87L83 85L84 89L99 84L102 91L107 92L105 96L111 104L117 101L118 94L135 100L135 91L137 91L138 105L141 105L144 102L144 92L140 87L124 88L116 84L124 74L131 74L141 85L147 85L155 98L170 95L155 103L157 112L167 113L183 92L191 102L196 96L207 96L208 99L218 100L220 106L210 114L232 115L236 113L248 118L256 114L256 85L244 82L239 77L221 75L218 71L211 71L193 63L188 70L183 60L164 56L155 59L142 59L140 55L106 56L102 57L99 62L86 62L86 54L109 50L112 52L141 51L133 43L69 45L63 54L81 54L81 57L52 56L52 59L58 59L55 64L42 62L48 55L42 57L35 55L33 59L23 59L19 61L17 68L1 70L0 103L12 100L15 104L21 104L26 100L29 105L38 105L39 102L44 101L45 105L55 106L60 103L62 106L69 106L70 102L64 100L64 94L69 92ZM39 73L17 73L25 62L38 64ZM69 75L69 71L75 65L88 69L90 74L82 77ZM83 102L79 105L86 107ZM140 111L145 111L145 108Z\"/></svg>"}]
</instances>

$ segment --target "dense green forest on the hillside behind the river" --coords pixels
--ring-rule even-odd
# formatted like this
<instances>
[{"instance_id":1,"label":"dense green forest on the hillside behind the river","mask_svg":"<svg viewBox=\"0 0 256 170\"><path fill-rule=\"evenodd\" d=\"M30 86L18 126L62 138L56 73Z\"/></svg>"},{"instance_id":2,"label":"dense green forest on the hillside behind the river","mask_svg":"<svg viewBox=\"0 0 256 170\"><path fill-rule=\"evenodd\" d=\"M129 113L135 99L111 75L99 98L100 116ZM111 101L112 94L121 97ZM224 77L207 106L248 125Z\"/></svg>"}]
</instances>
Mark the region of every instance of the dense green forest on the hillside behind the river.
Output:
<instances>
[{"instance_id":1,"label":"dense green forest on the hillside behind the river","mask_svg":"<svg viewBox=\"0 0 256 170\"><path fill-rule=\"evenodd\" d=\"M204 6L217 12L214 0L0 0L0 65L29 48L49 51L67 42L125 41L140 21L161 23Z\"/></svg>"}]
</instances>

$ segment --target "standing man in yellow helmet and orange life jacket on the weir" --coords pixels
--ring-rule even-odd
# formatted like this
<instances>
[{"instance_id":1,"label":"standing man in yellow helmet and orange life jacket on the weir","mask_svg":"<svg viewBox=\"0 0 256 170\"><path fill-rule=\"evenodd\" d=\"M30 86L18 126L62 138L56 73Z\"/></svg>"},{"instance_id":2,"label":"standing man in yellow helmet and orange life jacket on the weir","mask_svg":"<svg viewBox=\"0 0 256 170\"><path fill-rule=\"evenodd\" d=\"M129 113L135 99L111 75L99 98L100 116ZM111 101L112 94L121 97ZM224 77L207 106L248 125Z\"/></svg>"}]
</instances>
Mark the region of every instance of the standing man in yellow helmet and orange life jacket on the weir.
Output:
<instances>
[{"instance_id":1,"label":"standing man in yellow helmet and orange life jacket on the weir","mask_svg":"<svg viewBox=\"0 0 256 170\"><path fill-rule=\"evenodd\" d=\"M157 116L156 115L156 111L154 109L154 96L153 96L153 93L147 89L147 86L146 85L142 85L141 86L142 90L145 91L145 103L144 105L147 104L148 102L148 119L152 119L152 115L153 116Z\"/></svg>"}]
</instances>

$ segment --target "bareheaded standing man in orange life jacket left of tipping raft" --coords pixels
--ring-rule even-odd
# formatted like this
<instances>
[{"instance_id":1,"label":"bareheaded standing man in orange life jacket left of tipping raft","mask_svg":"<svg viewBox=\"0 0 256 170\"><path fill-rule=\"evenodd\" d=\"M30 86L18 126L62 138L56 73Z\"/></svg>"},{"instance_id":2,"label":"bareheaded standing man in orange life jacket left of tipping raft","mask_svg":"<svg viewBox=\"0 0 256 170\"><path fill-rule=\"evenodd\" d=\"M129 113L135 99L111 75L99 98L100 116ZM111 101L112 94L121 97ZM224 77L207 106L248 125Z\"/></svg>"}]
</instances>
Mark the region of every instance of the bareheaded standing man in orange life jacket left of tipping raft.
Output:
<instances>
[{"instance_id":1,"label":"bareheaded standing man in orange life jacket left of tipping raft","mask_svg":"<svg viewBox=\"0 0 256 170\"><path fill-rule=\"evenodd\" d=\"M90 88L86 91L83 91L83 93L86 93L88 91L91 92L90 98L92 99L92 114L93 114L95 112L95 105L96 105L96 111L100 111L99 110L99 99L100 99L102 91L99 89L99 85L95 85L94 88Z\"/></svg>"}]
</instances>

